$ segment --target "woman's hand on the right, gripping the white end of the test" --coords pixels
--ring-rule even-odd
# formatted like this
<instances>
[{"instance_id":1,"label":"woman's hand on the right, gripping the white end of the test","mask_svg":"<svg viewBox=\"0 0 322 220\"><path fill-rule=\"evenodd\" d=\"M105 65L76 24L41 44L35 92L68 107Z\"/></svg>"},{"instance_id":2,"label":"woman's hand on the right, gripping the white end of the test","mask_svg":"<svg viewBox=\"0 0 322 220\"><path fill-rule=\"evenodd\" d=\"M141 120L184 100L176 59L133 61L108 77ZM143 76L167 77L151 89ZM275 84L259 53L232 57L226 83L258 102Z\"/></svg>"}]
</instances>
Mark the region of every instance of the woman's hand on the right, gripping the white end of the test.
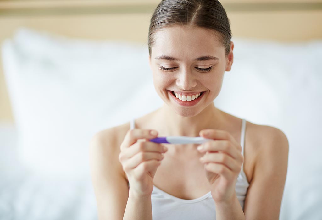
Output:
<instances>
[{"instance_id":1,"label":"woman's hand on the right, gripping the white end of the test","mask_svg":"<svg viewBox=\"0 0 322 220\"><path fill-rule=\"evenodd\" d=\"M199 135L213 139L197 148L204 153L200 161L211 184L211 195L215 202L228 203L236 197L236 181L244 160L242 147L227 131L204 129Z\"/></svg>"}]
</instances>

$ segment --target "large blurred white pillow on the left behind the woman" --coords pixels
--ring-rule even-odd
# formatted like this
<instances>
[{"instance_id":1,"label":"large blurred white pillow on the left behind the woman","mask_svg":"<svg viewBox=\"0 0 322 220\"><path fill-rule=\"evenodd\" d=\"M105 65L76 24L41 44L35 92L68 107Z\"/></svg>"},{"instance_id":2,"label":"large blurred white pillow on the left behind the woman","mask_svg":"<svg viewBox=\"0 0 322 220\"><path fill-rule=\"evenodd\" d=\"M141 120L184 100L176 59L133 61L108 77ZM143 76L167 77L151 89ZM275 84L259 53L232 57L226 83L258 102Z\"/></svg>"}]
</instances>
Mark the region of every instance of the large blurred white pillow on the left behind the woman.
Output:
<instances>
[{"instance_id":1,"label":"large blurred white pillow on the left behind the woman","mask_svg":"<svg viewBox=\"0 0 322 220\"><path fill-rule=\"evenodd\" d=\"M2 49L20 158L34 172L88 174L94 133L162 104L145 45L21 29Z\"/></svg>"}]
</instances>

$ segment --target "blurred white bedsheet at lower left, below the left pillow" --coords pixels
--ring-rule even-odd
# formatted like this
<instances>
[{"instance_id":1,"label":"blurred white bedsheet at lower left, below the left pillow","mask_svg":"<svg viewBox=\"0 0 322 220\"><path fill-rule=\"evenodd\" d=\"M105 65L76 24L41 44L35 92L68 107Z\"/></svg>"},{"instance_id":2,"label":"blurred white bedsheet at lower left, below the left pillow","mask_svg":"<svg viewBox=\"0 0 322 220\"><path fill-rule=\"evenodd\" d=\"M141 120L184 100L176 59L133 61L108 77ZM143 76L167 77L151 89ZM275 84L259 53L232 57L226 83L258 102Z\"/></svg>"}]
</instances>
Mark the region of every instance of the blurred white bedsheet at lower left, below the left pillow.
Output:
<instances>
[{"instance_id":1,"label":"blurred white bedsheet at lower left, below the left pillow","mask_svg":"<svg viewBox=\"0 0 322 220\"><path fill-rule=\"evenodd\" d=\"M16 156L16 129L0 124L0 219L97 219L90 178L42 177Z\"/></svg>"}]
</instances>

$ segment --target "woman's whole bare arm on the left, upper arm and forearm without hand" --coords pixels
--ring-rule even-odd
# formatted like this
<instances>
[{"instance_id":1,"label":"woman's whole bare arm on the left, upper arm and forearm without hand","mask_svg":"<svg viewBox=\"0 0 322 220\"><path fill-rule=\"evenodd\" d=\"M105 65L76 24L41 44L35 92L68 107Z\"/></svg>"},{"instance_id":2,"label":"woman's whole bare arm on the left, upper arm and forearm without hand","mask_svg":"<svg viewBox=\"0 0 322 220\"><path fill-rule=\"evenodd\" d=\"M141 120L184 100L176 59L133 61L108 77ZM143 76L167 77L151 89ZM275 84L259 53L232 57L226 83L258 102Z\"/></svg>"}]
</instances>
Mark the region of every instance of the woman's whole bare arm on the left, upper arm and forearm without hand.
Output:
<instances>
[{"instance_id":1,"label":"woman's whole bare arm on the left, upper arm and forearm without hand","mask_svg":"<svg viewBox=\"0 0 322 220\"><path fill-rule=\"evenodd\" d=\"M139 197L128 188L118 160L120 132L104 130L90 141L90 173L99 220L152 220L151 196Z\"/></svg>"}]
</instances>

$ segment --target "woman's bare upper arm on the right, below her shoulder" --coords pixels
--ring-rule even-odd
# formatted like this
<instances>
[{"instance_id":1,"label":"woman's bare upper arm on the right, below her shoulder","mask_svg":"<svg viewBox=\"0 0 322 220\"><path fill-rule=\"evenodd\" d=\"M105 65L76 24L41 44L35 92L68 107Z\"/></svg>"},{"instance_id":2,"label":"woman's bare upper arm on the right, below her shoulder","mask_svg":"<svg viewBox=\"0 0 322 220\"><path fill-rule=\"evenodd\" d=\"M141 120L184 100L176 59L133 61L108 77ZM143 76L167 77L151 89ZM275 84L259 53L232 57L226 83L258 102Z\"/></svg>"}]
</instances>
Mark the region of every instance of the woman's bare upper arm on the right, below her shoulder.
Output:
<instances>
[{"instance_id":1,"label":"woman's bare upper arm on the right, below her shoulder","mask_svg":"<svg viewBox=\"0 0 322 220\"><path fill-rule=\"evenodd\" d=\"M253 178L245 198L247 220L277 220L286 180L289 142L277 128L266 126L262 132Z\"/></svg>"}]
</instances>

